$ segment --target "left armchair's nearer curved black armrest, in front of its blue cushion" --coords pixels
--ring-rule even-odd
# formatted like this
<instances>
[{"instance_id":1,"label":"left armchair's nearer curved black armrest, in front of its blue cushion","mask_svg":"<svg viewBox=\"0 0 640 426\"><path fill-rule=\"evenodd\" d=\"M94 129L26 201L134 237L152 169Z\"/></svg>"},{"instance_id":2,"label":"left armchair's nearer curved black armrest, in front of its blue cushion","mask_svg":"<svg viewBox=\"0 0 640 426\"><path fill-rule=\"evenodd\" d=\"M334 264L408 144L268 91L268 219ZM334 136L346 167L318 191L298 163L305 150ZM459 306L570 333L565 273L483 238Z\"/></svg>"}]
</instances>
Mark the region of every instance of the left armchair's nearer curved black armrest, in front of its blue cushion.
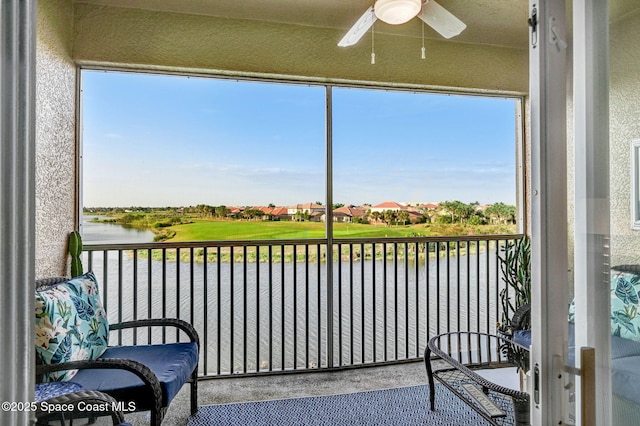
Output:
<instances>
[{"instance_id":1,"label":"left armchair's nearer curved black armrest, in front of its blue cushion","mask_svg":"<svg viewBox=\"0 0 640 426\"><path fill-rule=\"evenodd\" d=\"M58 364L40 364L36 365L36 377L41 377L45 373L63 370L81 370L81 369L114 369L129 371L142 380L142 382L153 392L153 401L156 405L156 412L162 407L162 387L160 381L153 371L146 365L123 358L105 358L86 361L70 361Z\"/></svg>"}]
</instances>

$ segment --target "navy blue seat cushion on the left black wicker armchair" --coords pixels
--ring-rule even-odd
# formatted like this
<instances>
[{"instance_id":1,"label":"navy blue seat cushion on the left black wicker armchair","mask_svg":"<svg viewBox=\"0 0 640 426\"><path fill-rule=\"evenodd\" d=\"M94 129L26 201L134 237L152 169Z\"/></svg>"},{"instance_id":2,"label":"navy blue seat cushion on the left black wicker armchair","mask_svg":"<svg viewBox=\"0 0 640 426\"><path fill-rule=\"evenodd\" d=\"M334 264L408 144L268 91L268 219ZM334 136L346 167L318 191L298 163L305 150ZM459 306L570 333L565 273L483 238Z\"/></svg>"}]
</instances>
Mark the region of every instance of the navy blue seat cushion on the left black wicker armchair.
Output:
<instances>
[{"instance_id":1,"label":"navy blue seat cushion on the left black wicker armchair","mask_svg":"<svg viewBox=\"0 0 640 426\"><path fill-rule=\"evenodd\" d=\"M125 358L141 362L155 373L162 386L162 406L167 407L198 364L196 343L116 346L108 348L100 359ZM79 370L73 381L85 389L107 393L119 401L135 402L137 410L153 407L152 395L142 380L126 370Z\"/></svg>"}]
</instances>

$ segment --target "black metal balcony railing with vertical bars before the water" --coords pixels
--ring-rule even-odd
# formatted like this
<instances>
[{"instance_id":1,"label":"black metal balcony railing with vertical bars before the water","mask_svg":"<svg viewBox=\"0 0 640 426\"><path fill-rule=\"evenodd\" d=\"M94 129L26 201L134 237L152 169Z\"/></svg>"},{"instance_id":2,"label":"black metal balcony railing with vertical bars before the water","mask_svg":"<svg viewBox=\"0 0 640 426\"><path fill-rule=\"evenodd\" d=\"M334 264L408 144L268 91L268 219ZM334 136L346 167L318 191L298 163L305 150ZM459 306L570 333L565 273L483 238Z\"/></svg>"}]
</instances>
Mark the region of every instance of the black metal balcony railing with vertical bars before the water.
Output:
<instances>
[{"instance_id":1,"label":"black metal balcony railing with vertical bars before the water","mask_svg":"<svg viewBox=\"0 0 640 426\"><path fill-rule=\"evenodd\" d=\"M84 261L110 321L189 321L201 375L243 376L412 361L435 334L494 333L498 253L520 237L94 244Z\"/></svg>"}]
</instances>

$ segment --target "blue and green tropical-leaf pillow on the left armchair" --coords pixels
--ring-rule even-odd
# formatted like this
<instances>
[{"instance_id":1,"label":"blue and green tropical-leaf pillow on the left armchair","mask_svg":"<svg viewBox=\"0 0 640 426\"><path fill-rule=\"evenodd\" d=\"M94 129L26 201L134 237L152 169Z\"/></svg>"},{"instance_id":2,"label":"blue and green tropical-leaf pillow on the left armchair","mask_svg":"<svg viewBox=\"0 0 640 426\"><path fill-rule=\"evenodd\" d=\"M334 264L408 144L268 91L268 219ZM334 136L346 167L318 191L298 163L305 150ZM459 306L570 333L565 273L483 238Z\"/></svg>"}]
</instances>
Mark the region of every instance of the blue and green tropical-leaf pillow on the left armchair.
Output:
<instances>
[{"instance_id":1,"label":"blue and green tropical-leaf pillow on the left armchair","mask_svg":"<svg viewBox=\"0 0 640 426\"><path fill-rule=\"evenodd\" d=\"M92 272L37 290L35 308L36 356L41 363L96 359L106 350L109 323ZM59 371L45 380L70 380L75 374Z\"/></svg>"}]
</instances>

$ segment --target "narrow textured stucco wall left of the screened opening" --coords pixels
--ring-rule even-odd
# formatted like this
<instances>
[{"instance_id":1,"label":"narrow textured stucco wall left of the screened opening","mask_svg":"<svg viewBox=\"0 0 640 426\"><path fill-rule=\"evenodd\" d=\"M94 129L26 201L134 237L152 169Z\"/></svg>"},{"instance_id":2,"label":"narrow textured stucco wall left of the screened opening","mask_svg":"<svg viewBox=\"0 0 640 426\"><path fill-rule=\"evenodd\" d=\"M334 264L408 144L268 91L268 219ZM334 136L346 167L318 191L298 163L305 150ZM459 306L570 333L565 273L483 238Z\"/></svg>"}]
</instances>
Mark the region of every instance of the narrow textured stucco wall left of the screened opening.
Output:
<instances>
[{"instance_id":1,"label":"narrow textured stucco wall left of the screened opening","mask_svg":"<svg viewBox=\"0 0 640 426\"><path fill-rule=\"evenodd\" d=\"M66 273L76 220L76 66L70 0L39 0L36 56L36 277Z\"/></svg>"}]
</instances>

